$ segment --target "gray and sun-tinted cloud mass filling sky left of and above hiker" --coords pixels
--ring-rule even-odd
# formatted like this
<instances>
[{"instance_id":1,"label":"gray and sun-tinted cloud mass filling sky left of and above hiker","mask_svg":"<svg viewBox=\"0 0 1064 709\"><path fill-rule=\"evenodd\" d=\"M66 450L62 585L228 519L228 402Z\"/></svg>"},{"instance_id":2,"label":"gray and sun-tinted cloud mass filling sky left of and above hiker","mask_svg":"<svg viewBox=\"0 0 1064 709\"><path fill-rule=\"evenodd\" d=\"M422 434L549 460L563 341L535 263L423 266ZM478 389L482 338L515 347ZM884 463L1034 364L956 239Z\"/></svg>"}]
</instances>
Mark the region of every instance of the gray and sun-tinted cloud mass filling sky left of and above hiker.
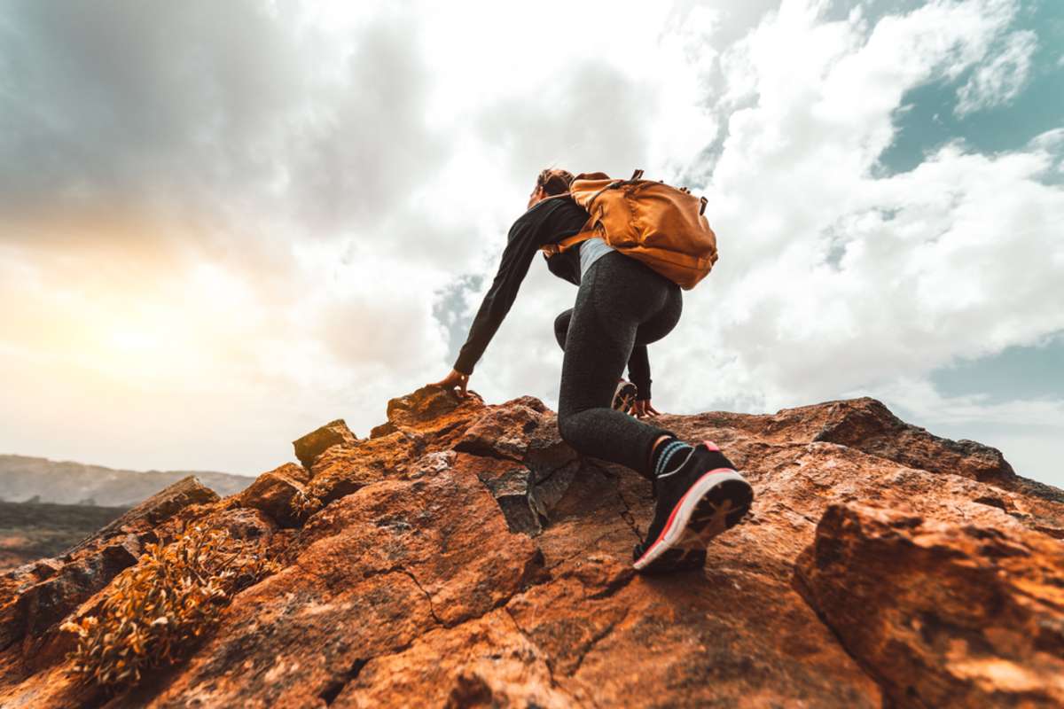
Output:
<instances>
[{"instance_id":1,"label":"gray and sun-tinted cloud mass filling sky left of and above hiker","mask_svg":"<svg viewBox=\"0 0 1064 709\"><path fill-rule=\"evenodd\" d=\"M712 135L672 11L629 10L6 5L0 448L253 472L366 433L446 372L436 292L494 269L545 163ZM152 406L169 443L129 444ZM94 423L55 441L60 410Z\"/></svg>"}]
</instances>

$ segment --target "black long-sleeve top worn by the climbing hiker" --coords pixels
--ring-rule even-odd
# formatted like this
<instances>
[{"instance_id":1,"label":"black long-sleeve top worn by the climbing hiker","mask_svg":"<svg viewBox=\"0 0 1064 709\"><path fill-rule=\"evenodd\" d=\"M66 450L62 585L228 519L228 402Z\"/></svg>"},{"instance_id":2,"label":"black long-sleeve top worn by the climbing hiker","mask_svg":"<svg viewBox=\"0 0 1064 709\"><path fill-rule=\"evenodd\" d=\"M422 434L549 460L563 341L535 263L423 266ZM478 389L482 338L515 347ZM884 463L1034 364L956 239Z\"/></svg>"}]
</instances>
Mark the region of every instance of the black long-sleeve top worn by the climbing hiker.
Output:
<instances>
[{"instance_id":1,"label":"black long-sleeve top worn by the climbing hiker","mask_svg":"<svg viewBox=\"0 0 1064 709\"><path fill-rule=\"evenodd\" d=\"M503 318L517 298L517 290L528 273L536 251L547 243L556 243L580 232L587 221L587 212L569 199L544 200L521 215L506 237L506 248L499 261L498 273L484 296L480 309L469 327L454 369L472 374ZM579 244L582 247L583 244ZM580 249L568 249L547 259L550 272L569 283L580 285ZM645 344L636 344L628 359L628 376L638 388L639 399L650 399L650 360Z\"/></svg>"}]
</instances>

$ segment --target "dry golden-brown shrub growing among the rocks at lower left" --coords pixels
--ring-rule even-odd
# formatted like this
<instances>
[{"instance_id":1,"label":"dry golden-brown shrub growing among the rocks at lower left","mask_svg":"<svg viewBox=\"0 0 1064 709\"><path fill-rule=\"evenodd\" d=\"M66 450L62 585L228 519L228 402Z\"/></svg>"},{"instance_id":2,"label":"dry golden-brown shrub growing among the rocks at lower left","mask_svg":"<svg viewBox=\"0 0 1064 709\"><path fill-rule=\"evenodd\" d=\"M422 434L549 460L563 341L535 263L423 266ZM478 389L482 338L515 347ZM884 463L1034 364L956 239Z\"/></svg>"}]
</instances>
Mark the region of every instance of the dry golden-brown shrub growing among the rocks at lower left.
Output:
<instances>
[{"instance_id":1,"label":"dry golden-brown shrub growing among the rocks at lower left","mask_svg":"<svg viewBox=\"0 0 1064 709\"><path fill-rule=\"evenodd\" d=\"M112 581L99 617L63 624L78 636L71 672L112 689L136 683L180 659L237 591L277 570L257 542L219 528L186 525L169 544L147 544Z\"/></svg>"}]
</instances>

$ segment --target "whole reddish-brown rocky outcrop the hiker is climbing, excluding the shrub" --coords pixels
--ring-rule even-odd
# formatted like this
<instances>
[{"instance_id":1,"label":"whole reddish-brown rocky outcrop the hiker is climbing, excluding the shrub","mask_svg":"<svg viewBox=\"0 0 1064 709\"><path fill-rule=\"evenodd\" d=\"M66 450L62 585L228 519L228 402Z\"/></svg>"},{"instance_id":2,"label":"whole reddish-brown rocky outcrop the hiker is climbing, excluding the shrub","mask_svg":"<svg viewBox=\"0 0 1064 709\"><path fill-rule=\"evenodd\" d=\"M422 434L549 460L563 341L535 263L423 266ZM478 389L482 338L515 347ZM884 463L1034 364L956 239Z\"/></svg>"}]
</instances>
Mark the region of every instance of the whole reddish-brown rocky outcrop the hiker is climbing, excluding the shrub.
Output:
<instances>
[{"instance_id":1,"label":"whole reddish-brown rocky outcrop the hiker is climbing, excluding the shrub","mask_svg":"<svg viewBox=\"0 0 1064 709\"><path fill-rule=\"evenodd\" d=\"M4 606L0 706L1060 706L1064 504L999 452L870 399L663 416L757 497L704 569L644 577L649 484L569 449L538 400L470 393L394 399L364 439L333 422L301 466L146 523L253 528L281 570L123 694L70 678L61 613Z\"/></svg>"}]
</instances>

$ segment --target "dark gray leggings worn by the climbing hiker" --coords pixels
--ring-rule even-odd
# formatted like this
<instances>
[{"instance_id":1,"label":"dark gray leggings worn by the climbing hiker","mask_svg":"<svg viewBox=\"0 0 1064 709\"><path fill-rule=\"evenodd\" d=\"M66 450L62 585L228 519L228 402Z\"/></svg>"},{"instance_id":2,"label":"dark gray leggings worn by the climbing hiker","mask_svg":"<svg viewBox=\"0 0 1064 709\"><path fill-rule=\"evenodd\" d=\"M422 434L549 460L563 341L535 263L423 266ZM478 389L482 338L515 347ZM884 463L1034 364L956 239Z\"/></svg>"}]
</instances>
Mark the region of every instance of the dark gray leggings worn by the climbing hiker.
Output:
<instances>
[{"instance_id":1,"label":"dark gray leggings worn by the climbing hiker","mask_svg":"<svg viewBox=\"0 0 1064 709\"><path fill-rule=\"evenodd\" d=\"M554 320L565 350L558 427L577 452L650 477L650 451L664 434L612 407L632 347L668 335L680 320L680 286L649 266L611 251L581 278L576 304Z\"/></svg>"}]
</instances>

